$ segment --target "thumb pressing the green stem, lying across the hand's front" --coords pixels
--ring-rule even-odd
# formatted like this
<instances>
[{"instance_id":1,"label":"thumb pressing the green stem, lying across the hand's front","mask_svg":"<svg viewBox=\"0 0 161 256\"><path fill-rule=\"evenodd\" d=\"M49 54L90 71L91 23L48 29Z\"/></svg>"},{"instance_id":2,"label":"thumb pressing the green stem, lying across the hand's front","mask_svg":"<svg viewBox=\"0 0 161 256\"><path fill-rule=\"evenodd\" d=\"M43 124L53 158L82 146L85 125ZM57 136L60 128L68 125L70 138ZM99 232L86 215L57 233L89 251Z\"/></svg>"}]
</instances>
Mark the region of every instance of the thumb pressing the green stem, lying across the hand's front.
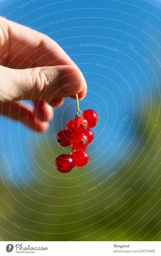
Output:
<instances>
[{"instance_id":1,"label":"thumb pressing the green stem, lying across the hand's front","mask_svg":"<svg viewBox=\"0 0 161 256\"><path fill-rule=\"evenodd\" d=\"M72 96L84 91L86 82L73 66L11 69L0 66L0 103L21 100L46 100Z\"/></svg>"}]
</instances>

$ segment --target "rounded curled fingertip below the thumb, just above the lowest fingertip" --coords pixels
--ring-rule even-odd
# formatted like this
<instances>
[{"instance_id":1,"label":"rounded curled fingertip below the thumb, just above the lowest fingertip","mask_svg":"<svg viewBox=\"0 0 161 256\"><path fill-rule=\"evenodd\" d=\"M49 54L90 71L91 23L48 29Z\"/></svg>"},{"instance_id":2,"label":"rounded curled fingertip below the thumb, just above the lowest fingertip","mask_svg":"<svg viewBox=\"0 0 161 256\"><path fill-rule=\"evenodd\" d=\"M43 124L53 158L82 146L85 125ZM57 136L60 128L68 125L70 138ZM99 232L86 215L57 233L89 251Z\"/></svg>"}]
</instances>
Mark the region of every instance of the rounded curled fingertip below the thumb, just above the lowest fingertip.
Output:
<instances>
[{"instance_id":1,"label":"rounded curled fingertip below the thumb, just above the lowest fingertip","mask_svg":"<svg viewBox=\"0 0 161 256\"><path fill-rule=\"evenodd\" d=\"M53 108L45 100L34 101L34 115L41 121L51 121L53 118Z\"/></svg>"}]
</instances>

